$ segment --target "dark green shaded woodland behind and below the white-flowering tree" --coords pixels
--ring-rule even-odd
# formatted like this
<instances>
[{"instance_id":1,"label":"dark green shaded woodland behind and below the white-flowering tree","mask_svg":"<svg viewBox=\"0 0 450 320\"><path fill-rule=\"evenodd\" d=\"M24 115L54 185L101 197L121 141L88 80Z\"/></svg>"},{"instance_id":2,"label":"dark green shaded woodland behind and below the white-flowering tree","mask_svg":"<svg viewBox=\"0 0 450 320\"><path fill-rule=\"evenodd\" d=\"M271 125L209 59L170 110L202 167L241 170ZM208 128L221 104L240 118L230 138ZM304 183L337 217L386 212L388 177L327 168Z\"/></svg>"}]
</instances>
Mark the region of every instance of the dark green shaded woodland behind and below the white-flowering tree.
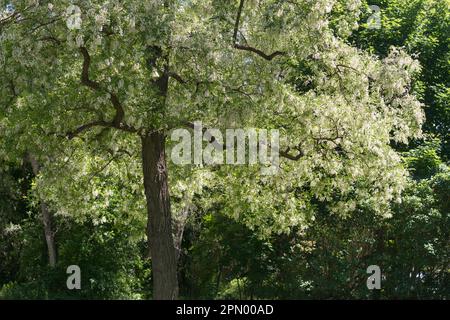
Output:
<instances>
[{"instance_id":1,"label":"dark green shaded woodland behind and below the white-flowering tree","mask_svg":"<svg viewBox=\"0 0 450 320\"><path fill-rule=\"evenodd\" d=\"M447 299L450 296L450 13L447 1L371 0L381 28L362 27L348 42L384 57L404 47L423 70L414 91L426 105L425 139L395 145L411 179L395 214L370 209L330 214L319 201L302 232L260 239L220 207L189 218L179 261L180 297L187 299ZM57 216L58 259L48 266L31 166L0 159L0 298L149 299L151 268L137 227L105 211L108 222ZM119 186L118 186L119 187ZM217 192L210 190L209 192ZM76 262L76 263L75 263ZM82 290L65 287L68 265L82 270ZM366 268L379 265L382 290L366 287Z\"/></svg>"}]
</instances>

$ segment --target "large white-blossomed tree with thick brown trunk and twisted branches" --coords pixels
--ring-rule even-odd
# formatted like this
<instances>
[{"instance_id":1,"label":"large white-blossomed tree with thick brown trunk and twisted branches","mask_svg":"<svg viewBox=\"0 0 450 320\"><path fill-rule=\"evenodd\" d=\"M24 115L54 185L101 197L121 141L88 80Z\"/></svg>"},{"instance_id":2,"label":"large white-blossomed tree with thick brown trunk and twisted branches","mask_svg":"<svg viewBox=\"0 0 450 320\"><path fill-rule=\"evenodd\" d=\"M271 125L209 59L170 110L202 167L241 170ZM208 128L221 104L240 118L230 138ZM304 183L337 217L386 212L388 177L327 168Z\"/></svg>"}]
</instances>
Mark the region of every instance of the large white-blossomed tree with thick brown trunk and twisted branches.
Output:
<instances>
[{"instance_id":1,"label":"large white-blossomed tree with thick brown trunk and twisted branches","mask_svg":"<svg viewBox=\"0 0 450 320\"><path fill-rule=\"evenodd\" d=\"M395 48L379 60L349 46L359 13L359 0L23 1L0 18L2 139L38 155L43 194L69 211L82 205L61 163L83 171L88 153L124 154L124 180L140 163L153 296L175 299L172 212L204 184L221 190L205 208L220 202L262 236L306 225L313 199L389 214L406 176L390 143L423 122L410 94L419 66ZM194 121L280 130L278 173L171 166L168 133Z\"/></svg>"}]
</instances>

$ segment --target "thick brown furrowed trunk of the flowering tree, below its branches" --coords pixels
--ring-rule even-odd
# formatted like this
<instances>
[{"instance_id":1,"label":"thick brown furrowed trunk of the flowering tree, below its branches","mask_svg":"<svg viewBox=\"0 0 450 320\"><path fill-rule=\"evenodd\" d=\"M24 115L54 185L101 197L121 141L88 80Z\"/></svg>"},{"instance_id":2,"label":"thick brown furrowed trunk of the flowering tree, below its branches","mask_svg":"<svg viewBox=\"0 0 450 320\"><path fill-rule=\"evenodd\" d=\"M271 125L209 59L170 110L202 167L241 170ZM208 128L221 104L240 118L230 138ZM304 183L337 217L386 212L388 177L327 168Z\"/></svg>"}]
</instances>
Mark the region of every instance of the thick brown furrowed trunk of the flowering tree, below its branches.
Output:
<instances>
[{"instance_id":1,"label":"thick brown furrowed trunk of the flowering tree, below its branches","mask_svg":"<svg viewBox=\"0 0 450 320\"><path fill-rule=\"evenodd\" d=\"M147 199L147 237L152 259L153 298L178 298L177 262L167 181L165 136L142 137L142 167Z\"/></svg>"}]
</instances>

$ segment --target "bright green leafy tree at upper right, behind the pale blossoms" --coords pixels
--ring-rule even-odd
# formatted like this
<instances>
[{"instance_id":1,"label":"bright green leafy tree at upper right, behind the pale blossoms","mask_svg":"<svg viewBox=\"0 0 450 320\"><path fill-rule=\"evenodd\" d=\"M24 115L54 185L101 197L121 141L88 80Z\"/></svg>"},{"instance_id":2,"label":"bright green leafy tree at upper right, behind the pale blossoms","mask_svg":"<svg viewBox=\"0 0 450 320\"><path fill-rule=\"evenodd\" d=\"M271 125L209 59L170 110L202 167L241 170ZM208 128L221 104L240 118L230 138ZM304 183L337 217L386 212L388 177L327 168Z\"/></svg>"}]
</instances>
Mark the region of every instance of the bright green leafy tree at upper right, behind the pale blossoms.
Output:
<instances>
[{"instance_id":1,"label":"bright green leafy tree at upper right, behind the pale blossoms","mask_svg":"<svg viewBox=\"0 0 450 320\"><path fill-rule=\"evenodd\" d=\"M352 42L379 56L390 46L404 47L422 65L414 90L426 105L424 130L439 137L441 156L449 159L449 39L448 0L381 0L367 2L381 8L381 28L360 28ZM362 17L367 21L368 14Z\"/></svg>"}]
</instances>

